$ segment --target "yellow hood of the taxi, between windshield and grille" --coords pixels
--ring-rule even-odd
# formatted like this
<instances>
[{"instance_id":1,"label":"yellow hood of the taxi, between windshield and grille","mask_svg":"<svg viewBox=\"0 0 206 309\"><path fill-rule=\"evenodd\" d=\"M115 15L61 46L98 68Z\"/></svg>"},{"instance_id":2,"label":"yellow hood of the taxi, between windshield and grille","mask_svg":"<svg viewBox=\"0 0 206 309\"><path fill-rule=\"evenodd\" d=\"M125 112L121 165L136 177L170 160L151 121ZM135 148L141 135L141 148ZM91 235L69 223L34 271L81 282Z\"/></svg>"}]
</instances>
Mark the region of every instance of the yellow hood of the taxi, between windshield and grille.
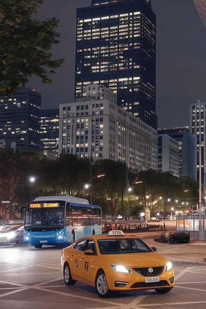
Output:
<instances>
[{"instance_id":1,"label":"yellow hood of the taxi, between windshield and grille","mask_svg":"<svg viewBox=\"0 0 206 309\"><path fill-rule=\"evenodd\" d=\"M166 265L168 262L165 257L156 252L105 254L101 259L109 264L128 267L154 267Z\"/></svg>"}]
</instances>

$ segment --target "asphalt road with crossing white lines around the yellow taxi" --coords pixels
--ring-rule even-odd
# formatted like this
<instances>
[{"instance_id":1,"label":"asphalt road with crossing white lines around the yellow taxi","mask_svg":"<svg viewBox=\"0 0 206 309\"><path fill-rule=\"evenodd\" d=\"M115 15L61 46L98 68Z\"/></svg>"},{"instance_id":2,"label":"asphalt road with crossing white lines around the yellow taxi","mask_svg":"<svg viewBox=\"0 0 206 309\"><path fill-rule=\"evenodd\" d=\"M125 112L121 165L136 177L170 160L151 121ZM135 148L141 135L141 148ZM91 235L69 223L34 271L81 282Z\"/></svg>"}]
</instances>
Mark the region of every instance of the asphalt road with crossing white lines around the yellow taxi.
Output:
<instances>
[{"instance_id":1,"label":"asphalt road with crossing white lines around the yellow taxi","mask_svg":"<svg viewBox=\"0 0 206 309\"><path fill-rule=\"evenodd\" d=\"M206 245L155 243L151 232L138 236L174 262L176 285L169 294L141 290L101 299L91 286L64 285L61 249L20 245L0 248L0 308L205 309L206 264L198 261L206 257Z\"/></svg>"}]
</instances>

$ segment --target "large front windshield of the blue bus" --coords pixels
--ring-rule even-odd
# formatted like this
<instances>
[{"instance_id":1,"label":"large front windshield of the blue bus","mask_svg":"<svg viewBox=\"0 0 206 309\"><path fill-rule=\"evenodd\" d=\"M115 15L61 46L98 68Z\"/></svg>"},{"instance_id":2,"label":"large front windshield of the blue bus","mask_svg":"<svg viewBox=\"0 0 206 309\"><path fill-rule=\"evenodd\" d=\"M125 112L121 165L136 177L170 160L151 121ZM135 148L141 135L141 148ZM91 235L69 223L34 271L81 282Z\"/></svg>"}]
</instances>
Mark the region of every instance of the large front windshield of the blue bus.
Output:
<instances>
[{"instance_id":1,"label":"large front windshield of the blue bus","mask_svg":"<svg viewBox=\"0 0 206 309\"><path fill-rule=\"evenodd\" d=\"M32 208L25 212L25 229L61 228L64 226L64 208Z\"/></svg>"}]
</instances>

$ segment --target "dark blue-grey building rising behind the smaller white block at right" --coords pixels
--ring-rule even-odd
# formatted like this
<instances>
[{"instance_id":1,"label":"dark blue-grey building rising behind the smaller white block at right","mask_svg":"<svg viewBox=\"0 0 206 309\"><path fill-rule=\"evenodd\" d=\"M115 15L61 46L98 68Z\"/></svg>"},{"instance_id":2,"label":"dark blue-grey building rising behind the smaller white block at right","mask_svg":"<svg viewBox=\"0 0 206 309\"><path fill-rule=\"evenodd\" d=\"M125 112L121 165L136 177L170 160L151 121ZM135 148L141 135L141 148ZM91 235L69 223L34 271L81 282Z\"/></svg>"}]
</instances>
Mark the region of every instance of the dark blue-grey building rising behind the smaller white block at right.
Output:
<instances>
[{"instance_id":1,"label":"dark blue-grey building rising behind the smaller white block at right","mask_svg":"<svg viewBox=\"0 0 206 309\"><path fill-rule=\"evenodd\" d=\"M196 138L189 127L159 129L159 134L168 134L179 143L179 177L196 180Z\"/></svg>"}]
</instances>

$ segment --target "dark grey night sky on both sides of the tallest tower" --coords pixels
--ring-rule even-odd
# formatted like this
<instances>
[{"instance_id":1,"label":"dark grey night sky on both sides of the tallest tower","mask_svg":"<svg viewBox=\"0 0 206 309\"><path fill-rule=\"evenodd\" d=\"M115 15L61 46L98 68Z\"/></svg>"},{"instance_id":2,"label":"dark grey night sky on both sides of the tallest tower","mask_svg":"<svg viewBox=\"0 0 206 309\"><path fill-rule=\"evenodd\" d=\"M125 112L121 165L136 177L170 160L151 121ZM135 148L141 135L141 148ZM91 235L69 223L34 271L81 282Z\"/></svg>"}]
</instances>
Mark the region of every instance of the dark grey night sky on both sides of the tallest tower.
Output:
<instances>
[{"instance_id":1,"label":"dark grey night sky on both sides of the tallest tower","mask_svg":"<svg viewBox=\"0 0 206 309\"><path fill-rule=\"evenodd\" d=\"M91 0L44 0L37 18L56 16L61 43L54 58L66 61L53 83L32 78L27 87L42 94L42 108L74 102L76 8ZM190 103L206 101L206 28L189 0L152 0L157 15L157 115L158 128L189 125Z\"/></svg>"}]
</instances>

